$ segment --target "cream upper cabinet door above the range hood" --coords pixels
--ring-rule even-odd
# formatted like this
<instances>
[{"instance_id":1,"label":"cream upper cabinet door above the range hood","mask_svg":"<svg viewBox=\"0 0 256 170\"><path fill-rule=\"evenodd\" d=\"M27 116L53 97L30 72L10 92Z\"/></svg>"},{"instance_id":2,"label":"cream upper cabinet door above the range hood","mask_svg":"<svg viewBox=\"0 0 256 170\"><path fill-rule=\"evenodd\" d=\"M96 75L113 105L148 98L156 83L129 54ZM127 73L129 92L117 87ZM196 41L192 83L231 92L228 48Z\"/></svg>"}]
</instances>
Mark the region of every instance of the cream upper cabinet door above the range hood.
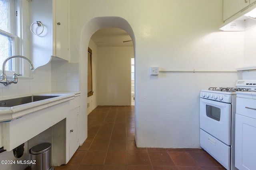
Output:
<instances>
[{"instance_id":1,"label":"cream upper cabinet door above the range hood","mask_svg":"<svg viewBox=\"0 0 256 170\"><path fill-rule=\"evenodd\" d=\"M250 0L223 0L223 21L226 21L248 5L250 5Z\"/></svg>"}]
</instances>

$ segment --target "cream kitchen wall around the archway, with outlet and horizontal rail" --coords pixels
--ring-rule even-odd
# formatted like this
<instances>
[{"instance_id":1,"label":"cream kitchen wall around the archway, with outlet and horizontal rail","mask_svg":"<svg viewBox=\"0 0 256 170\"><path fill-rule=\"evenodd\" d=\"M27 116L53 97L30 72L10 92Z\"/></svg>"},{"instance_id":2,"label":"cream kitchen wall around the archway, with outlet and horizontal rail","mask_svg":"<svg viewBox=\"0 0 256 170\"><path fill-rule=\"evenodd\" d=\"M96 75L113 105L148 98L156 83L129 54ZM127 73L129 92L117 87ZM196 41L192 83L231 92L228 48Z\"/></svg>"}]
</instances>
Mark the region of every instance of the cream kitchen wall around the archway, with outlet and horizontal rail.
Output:
<instances>
[{"instance_id":1,"label":"cream kitchen wall around the archway, with outlet and horizontal rail","mask_svg":"<svg viewBox=\"0 0 256 170\"><path fill-rule=\"evenodd\" d=\"M73 0L70 14L70 52L78 61L86 55L84 47L95 31L104 25L118 25L118 20L93 25L94 18L118 16L130 24L136 59L137 146L200 147L200 90L234 86L238 74L171 72L150 76L149 68L235 70L243 66L244 32L218 30L223 22L222 0Z\"/></svg>"}]
</instances>

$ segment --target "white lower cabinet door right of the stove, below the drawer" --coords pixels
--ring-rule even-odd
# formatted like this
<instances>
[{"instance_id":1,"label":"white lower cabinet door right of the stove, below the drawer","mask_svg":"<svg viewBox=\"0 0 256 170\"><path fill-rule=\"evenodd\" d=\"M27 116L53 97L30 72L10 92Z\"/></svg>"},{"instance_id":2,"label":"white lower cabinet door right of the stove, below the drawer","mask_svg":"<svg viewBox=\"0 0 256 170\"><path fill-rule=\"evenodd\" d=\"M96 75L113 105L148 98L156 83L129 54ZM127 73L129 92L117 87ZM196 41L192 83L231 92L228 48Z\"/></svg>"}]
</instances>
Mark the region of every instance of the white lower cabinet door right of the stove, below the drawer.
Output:
<instances>
[{"instance_id":1,"label":"white lower cabinet door right of the stove, below the drawer","mask_svg":"<svg viewBox=\"0 0 256 170\"><path fill-rule=\"evenodd\" d=\"M255 170L256 119L236 114L235 166Z\"/></svg>"}]
</instances>

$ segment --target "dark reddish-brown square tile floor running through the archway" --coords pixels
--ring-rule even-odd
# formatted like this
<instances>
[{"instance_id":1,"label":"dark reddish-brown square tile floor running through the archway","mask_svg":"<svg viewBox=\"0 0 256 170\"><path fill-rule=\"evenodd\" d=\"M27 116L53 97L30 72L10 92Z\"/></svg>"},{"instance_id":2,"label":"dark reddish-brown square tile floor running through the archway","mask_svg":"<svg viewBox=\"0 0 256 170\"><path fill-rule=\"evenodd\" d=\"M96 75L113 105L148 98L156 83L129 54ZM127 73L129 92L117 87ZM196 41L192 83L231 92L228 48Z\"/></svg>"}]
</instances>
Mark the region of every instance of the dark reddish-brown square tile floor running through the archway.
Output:
<instances>
[{"instance_id":1,"label":"dark reddish-brown square tile floor running through the archway","mask_svg":"<svg viewBox=\"0 0 256 170\"><path fill-rule=\"evenodd\" d=\"M98 106L88 115L88 138L56 170L224 170L202 149L137 148L134 106Z\"/></svg>"}]
</instances>

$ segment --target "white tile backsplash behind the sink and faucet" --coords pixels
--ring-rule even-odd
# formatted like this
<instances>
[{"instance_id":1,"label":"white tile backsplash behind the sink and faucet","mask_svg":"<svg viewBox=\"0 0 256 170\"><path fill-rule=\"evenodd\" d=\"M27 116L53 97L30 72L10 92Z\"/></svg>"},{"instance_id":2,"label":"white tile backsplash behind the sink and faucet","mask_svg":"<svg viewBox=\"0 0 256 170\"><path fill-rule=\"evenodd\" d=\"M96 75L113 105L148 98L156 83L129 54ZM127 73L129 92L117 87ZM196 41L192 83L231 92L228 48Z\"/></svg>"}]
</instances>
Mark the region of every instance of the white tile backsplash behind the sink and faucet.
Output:
<instances>
[{"instance_id":1,"label":"white tile backsplash behind the sink and faucet","mask_svg":"<svg viewBox=\"0 0 256 170\"><path fill-rule=\"evenodd\" d=\"M10 76L8 74L8 76ZM0 84L0 98L44 93L79 91L79 63L51 61L32 71L31 78L18 78L17 84Z\"/></svg>"}]
</instances>

